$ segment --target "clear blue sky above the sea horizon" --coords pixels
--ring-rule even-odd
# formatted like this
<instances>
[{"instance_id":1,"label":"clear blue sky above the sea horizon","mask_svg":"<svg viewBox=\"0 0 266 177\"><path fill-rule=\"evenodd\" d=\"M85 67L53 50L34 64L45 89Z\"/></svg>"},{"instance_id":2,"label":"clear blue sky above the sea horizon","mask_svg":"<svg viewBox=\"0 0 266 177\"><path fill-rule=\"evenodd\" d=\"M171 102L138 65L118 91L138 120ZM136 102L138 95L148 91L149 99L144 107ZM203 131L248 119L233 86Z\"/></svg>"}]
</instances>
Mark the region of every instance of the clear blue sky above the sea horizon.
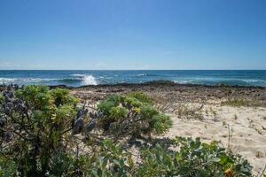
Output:
<instances>
[{"instance_id":1,"label":"clear blue sky above the sea horizon","mask_svg":"<svg viewBox=\"0 0 266 177\"><path fill-rule=\"evenodd\" d=\"M0 0L0 69L266 69L266 1Z\"/></svg>"}]
</instances>

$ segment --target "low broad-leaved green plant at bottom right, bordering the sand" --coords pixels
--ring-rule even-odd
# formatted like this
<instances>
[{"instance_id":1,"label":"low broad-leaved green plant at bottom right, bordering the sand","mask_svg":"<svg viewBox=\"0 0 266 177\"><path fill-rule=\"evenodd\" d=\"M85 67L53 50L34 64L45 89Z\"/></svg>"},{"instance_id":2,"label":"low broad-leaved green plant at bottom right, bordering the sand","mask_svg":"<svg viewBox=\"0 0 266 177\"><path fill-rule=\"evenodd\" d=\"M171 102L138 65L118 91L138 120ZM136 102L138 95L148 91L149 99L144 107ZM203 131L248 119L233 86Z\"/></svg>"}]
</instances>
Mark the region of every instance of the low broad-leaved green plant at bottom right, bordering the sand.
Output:
<instances>
[{"instance_id":1,"label":"low broad-leaved green plant at bottom right, bordering the sand","mask_svg":"<svg viewBox=\"0 0 266 177\"><path fill-rule=\"evenodd\" d=\"M233 176L251 176L252 167L239 155L227 153L217 142L210 144L191 138L176 138L178 151L157 145L144 150L140 176L224 176L230 170ZM158 175L159 174L159 175Z\"/></svg>"}]
</instances>

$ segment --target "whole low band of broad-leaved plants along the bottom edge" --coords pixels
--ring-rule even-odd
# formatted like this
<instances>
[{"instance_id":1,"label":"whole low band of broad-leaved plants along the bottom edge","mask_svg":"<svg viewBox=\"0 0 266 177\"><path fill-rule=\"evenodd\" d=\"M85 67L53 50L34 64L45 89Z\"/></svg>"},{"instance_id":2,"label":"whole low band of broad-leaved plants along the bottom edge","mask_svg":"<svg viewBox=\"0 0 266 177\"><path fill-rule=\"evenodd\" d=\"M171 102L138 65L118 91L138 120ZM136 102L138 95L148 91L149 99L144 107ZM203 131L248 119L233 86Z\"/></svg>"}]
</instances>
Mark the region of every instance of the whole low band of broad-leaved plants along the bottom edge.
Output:
<instances>
[{"instance_id":1,"label":"whole low band of broad-leaved plants along the bottom edge","mask_svg":"<svg viewBox=\"0 0 266 177\"><path fill-rule=\"evenodd\" d=\"M52 158L52 176L225 176L228 171L233 176L252 176L251 166L239 155L232 155L217 142L210 144L200 139L176 138L169 150L157 144L144 149L138 161L111 140L98 145L98 150L90 156L79 158L63 154ZM56 159L56 160L55 160Z\"/></svg>"}]
</instances>

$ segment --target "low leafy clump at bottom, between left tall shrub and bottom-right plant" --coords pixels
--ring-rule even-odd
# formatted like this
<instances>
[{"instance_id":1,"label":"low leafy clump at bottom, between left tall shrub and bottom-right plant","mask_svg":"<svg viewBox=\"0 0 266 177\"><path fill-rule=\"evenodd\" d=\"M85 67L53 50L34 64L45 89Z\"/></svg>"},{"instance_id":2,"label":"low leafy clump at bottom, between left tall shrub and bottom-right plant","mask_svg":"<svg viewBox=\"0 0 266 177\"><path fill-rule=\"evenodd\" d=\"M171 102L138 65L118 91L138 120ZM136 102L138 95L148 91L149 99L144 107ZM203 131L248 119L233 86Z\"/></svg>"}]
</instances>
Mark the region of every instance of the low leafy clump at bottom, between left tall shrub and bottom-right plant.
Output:
<instances>
[{"instance_id":1,"label":"low leafy clump at bottom, between left tall shrub and bottom-right plant","mask_svg":"<svg viewBox=\"0 0 266 177\"><path fill-rule=\"evenodd\" d=\"M51 158L51 176L132 176L135 164L129 152L106 139L90 155L74 158L69 153L57 152Z\"/></svg>"}]
</instances>

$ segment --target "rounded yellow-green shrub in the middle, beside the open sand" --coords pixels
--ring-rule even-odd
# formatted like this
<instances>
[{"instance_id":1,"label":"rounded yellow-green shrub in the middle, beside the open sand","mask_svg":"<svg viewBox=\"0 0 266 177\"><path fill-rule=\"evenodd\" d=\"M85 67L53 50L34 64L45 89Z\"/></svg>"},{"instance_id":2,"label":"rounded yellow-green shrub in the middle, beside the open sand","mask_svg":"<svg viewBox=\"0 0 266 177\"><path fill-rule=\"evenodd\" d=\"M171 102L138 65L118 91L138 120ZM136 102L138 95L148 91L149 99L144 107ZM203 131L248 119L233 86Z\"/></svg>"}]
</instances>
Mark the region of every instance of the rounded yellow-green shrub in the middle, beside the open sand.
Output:
<instances>
[{"instance_id":1,"label":"rounded yellow-green shrub in the middle, beside the open sand","mask_svg":"<svg viewBox=\"0 0 266 177\"><path fill-rule=\"evenodd\" d=\"M162 134L171 119L153 106L152 99L141 92L127 96L109 96L98 104L99 124L115 135Z\"/></svg>"}]
</instances>

